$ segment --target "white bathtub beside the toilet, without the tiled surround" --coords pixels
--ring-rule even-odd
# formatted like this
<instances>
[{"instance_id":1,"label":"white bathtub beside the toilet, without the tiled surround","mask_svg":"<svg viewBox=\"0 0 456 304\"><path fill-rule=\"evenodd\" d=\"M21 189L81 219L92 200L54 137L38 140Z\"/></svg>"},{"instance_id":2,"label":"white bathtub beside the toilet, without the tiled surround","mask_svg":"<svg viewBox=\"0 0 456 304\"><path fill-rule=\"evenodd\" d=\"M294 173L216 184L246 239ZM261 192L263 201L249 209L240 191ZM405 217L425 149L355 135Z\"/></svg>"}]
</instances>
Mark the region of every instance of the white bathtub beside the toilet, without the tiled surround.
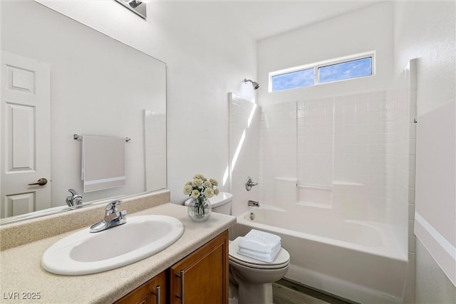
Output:
<instances>
[{"instance_id":1,"label":"white bathtub beside the toilet, without the tiled surround","mask_svg":"<svg viewBox=\"0 0 456 304\"><path fill-rule=\"evenodd\" d=\"M234 235L250 229L281 236L285 278L358 303L403 303L407 254L385 224L261 206L237 216Z\"/></svg>"}]
</instances>

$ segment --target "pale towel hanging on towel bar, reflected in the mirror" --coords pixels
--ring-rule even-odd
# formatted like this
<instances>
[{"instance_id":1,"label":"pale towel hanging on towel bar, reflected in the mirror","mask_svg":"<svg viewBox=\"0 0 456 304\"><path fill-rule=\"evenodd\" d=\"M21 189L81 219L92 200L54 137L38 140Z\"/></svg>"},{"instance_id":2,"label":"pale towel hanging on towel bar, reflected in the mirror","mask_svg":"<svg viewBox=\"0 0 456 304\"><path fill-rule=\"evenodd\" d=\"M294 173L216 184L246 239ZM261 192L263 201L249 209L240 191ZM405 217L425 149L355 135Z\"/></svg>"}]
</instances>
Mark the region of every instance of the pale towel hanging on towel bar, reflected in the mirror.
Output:
<instances>
[{"instance_id":1,"label":"pale towel hanging on towel bar, reflected in the mirror","mask_svg":"<svg viewBox=\"0 0 456 304\"><path fill-rule=\"evenodd\" d=\"M84 192L125 186L125 137L83 136Z\"/></svg>"}]
</instances>

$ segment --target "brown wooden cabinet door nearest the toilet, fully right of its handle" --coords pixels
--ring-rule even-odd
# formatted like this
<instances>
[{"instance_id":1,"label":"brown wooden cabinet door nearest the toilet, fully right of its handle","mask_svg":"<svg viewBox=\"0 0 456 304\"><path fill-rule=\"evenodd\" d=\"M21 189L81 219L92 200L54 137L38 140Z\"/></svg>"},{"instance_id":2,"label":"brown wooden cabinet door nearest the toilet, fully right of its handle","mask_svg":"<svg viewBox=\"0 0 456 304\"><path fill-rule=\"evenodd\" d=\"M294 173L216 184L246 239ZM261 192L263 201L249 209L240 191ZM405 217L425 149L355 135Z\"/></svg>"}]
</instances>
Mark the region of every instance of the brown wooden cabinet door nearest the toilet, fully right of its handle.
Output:
<instances>
[{"instance_id":1,"label":"brown wooden cabinet door nearest the toilet, fully right of its handle","mask_svg":"<svg viewBox=\"0 0 456 304\"><path fill-rule=\"evenodd\" d=\"M228 303L228 231L170 268L171 303Z\"/></svg>"}]
</instances>

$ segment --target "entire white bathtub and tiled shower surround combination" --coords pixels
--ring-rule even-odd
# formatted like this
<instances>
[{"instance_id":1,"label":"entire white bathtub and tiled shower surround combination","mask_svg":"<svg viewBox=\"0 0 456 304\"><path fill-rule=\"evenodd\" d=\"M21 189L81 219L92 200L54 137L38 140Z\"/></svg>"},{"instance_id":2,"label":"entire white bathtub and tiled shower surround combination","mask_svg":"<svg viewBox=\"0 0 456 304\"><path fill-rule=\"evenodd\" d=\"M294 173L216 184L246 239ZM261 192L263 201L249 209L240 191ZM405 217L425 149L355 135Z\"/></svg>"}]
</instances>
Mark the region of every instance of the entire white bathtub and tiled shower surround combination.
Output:
<instances>
[{"instance_id":1,"label":"entire white bathtub and tiled shower surround combination","mask_svg":"<svg viewBox=\"0 0 456 304\"><path fill-rule=\"evenodd\" d=\"M248 199L260 207L232 185L234 236L281 236L291 256L285 278L359 303L413 302L410 66L391 90L261 107L231 95L232 155L239 138L250 153L252 142L259 146L259 185ZM244 120L245 134L235 132ZM244 167L232 176L252 174Z\"/></svg>"}]
</instances>

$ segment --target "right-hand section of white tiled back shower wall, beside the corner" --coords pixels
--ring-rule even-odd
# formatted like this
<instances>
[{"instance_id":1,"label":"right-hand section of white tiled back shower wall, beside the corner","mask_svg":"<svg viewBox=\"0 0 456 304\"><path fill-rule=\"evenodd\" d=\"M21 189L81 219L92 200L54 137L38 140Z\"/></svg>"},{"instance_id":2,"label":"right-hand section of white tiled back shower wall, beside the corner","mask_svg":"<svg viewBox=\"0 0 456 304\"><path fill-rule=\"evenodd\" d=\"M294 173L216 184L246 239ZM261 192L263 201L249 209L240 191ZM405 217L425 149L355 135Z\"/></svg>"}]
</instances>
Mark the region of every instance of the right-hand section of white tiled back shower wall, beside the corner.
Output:
<instances>
[{"instance_id":1,"label":"right-hand section of white tiled back shower wall, beside the corner","mask_svg":"<svg viewBox=\"0 0 456 304\"><path fill-rule=\"evenodd\" d=\"M333 193L338 206L350 206L349 218L388 221L388 109L385 91L334 98L334 182L359 184L351 194Z\"/></svg>"}]
</instances>

